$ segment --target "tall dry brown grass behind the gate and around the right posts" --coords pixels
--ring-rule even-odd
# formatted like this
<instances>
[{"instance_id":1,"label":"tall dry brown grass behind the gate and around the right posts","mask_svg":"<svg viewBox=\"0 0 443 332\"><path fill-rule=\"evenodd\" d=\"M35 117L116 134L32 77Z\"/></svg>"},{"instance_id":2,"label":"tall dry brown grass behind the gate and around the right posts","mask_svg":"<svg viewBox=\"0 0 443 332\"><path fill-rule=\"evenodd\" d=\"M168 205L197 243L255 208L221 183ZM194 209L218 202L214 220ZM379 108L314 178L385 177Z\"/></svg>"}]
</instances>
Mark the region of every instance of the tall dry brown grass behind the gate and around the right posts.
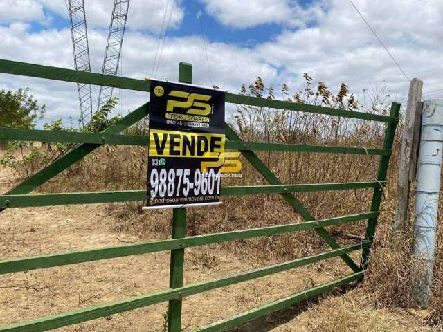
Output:
<instances>
[{"instance_id":1,"label":"tall dry brown grass behind the gate and around the right posts","mask_svg":"<svg viewBox=\"0 0 443 332\"><path fill-rule=\"evenodd\" d=\"M395 148L397 149L397 147L398 144ZM97 151L96 154L88 157L90 159L85 159L83 161L84 165L81 167L75 167L62 174L63 181L60 181L60 178L51 181L43 190L60 192L103 190L103 188L109 190L144 188L146 169L141 160L144 160L145 154L134 154L134 149L128 147L115 149L114 151L111 149ZM284 174L284 172L278 174L286 183L366 181L372 178L370 174L374 174L377 167L377 159L368 156L345 156L344 158L341 156L340 160L335 156L325 158L320 154L311 154L309 159L307 159L307 155L302 154L296 154L296 158L290 158L289 154L280 154L275 158L263 154L262 157L264 157L264 160L266 160L266 157L269 158L266 161L271 167L273 160L282 160L282 163L287 163L288 166L283 167L284 169L296 169L296 165L301 163L313 165L313 167L298 168L299 181L291 181L289 171L286 171L287 174ZM372 159L372 163L368 159ZM104 161L105 165L97 163L96 160ZM141 164L142 167L136 165L135 161L138 162L138 165ZM354 163L354 165L349 166L350 163ZM100 168L98 168L98 165L100 165ZM349 174L343 174L343 165L349 167ZM367 165L367 167L363 169L363 165ZM321 172L321 169L325 168L329 169L328 177ZM383 317L380 316L380 312L383 313L383 310L395 311L395 308L414 306L413 299L410 296L411 275L414 275L414 266L413 262L408 259L411 253L412 241L410 237L406 237L400 241L397 250L392 250L390 239L390 224L395 207L396 168L397 150L392 158L388 178L389 184L385 190L386 199L383 201L383 211L379 219L377 236L372 250L370 272L359 293L354 294L359 298L353 299L352 308L345 305L352 297L347 297L345 302L341 302L341 300L326 302L321 306L321 310L324 311L325 315L332 315L332 312L334 312L334 319L314 320L308 324L308 331L398 331L386 326L392 326L394 323L401 326L408 323L409 318L406 318L405 322L392 322L390 315L386 317L386 320L383 320ZM118 169L125 169L125 171L120 172ZM127 180L121 181L123 178ZM306 180L301 181L302 179ZM248 164L245 164L242 178L227 180L226 182L230 182L228 183L230 185L264 183L263 179ZM371 195L371 190L357 190L356 192L307 193L298 194L297 196L316 218L326 218L368 211ZM289 205L284 203L278 195L224 197L223 201L223 205L209 209L188 209L188 235L302 221L300 216L293 213ZM142 204L139 202L109 205L107 213L115 219L114 230L116 232L132 232L141 238L152 237L152 234L156 234L159 238L168 237L170 234L171 212L159 210L149 214L142 213ZM439 218L441 218L441 215ZM365 223L341 225L332 228L331 231L340 243L352 243L352 241L355 241L352 236L363 236ZM443 229L440 228L432 308L423 320L417 318L420 324L427 322L430 326L439 326L443 321L442 235ZM222 244L218 248L253 261L281 261L311 255L320 249L327 249L327 246L313 231L306 231L235 241ZM208 264L208 266L214 264L210 252L205 252L205 255L201 255L201 257L190 257L190 259L199 260L202 264ZM364 299L364 301L359 302L359 299ZM355 320L356 313L360 317ZM368 317L370 317L370 321L367 321ZM398 319L401 321L404 317L399 315ZM341 330L337 326L345 327ZM406 329L406 331L409 330ZM426 331L426 328L410 331Z\"/></svg>"}]
</instances>

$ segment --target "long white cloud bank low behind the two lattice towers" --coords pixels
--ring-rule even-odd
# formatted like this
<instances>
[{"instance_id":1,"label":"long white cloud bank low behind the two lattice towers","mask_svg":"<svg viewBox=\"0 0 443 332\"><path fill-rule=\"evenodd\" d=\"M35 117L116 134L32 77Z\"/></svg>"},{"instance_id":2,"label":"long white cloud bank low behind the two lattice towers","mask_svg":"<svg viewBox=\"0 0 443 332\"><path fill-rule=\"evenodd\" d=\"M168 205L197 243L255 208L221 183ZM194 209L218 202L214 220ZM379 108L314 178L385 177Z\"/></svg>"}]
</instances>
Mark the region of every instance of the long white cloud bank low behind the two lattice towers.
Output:
<instances>
[{"instance_id":1,"label":"long white cloud bank low behind the two lattice towers","mask_svg":"<svg viewBox=\"0 0 443 332\"><path fill-rule=\"evenodd\" d=\"M5 47L0 48L0 58L73 68L69 28L42 30L37 33L31 32L29 28L30 26L27 24L0 27L0 34L7 36L3 39ZM106 37L107 31L102 29L91 29L89 33L89 45L91 54L93 54L91 57L93 71L100 71L102 58L94 55L102 54ZM123 76L141 80L150 77L157 44L158 39L152 35L128 31L123 46ZM275 69L264 63L253 50L223 43L208 44L207 49L213 82L210 82L206 55L201 39L197 36L166 39L159 61L157 78L176 81L179 62L194 64L193 77L196 84L207 86L217 84L222 89L230 91L238 91L242 82L251 82L257 73L261 73L269 80L275 80L277 77ZM226 75L226 73L230 74ZM30 88L30 92L39 102L46 104L45 121L60 117L66 121L70 116L74 120L78 118L78 95L74 83L0 73L0 89L18 89L26 86ZM94 88L96 98L98 88ZM121 97L120 104L116 109L121 113L135 109L146 102L149 97L149 93L120 91L120 89L115 89L114 95Z\"/></svg>"}]
</instances>

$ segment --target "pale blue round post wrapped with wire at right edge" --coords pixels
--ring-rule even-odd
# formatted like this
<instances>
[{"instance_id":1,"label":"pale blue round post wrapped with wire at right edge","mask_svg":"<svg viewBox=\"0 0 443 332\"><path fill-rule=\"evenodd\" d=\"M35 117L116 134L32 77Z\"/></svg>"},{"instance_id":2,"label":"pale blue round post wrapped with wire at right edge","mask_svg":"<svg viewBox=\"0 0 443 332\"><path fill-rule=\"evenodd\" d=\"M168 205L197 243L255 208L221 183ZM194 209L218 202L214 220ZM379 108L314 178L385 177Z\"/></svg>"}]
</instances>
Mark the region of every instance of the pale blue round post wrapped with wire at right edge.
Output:
<instances>
[{"instance_id":1,"label":"pale blue round post wrapped with wire at right edge","mask_svg":"<svg viewBox=\"0 0 443 332\"><path fill-rule=\"evenodd\" d=\"M420 268L419 273L415 274L413 292L417 304L426 308L430 304L429 288L435 260L443 149L443 99L424 102L420 145L413 256L418 259L418 263L424 264L419 264L423 270Z\"/></svg>"}]
</instances>

